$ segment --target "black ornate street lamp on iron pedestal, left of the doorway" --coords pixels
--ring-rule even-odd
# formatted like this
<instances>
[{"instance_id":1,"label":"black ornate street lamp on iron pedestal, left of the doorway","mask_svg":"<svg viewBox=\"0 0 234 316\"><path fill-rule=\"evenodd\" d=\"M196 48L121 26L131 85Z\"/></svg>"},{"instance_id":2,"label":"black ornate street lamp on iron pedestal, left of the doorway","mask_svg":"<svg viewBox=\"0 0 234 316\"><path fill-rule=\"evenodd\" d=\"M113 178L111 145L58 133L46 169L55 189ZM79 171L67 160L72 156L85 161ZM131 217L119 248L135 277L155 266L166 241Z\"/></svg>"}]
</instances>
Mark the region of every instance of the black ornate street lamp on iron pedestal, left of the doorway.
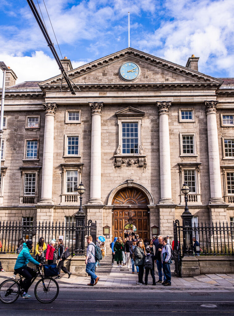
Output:
<instances>
[{"instance_id":1,"label":"black ornate street lamp on iron pedestal, left of the doorway","mask_svg":"<svg viewBox=\"0 0 234 316\"><path fill-rule=\"evenodd\" d=\"M77 193L80 194L80 207L75 214L75 256L84 256L85 251L85 213L82 210L82 194L85 191L81 181L77 188Z\"/></svg>"}]
</instances>

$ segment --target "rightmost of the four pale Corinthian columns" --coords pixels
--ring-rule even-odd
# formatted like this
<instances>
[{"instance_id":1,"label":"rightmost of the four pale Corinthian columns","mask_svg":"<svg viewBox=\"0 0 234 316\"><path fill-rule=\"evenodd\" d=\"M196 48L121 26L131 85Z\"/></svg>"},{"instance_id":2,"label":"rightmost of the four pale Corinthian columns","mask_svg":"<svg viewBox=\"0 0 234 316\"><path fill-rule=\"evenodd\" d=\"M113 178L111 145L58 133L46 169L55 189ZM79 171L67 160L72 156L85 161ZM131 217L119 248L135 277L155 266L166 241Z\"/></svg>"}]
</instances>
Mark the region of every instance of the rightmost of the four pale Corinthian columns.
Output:
<instances>
[{"instance_id":1,"label":"rightmost of the four pale Corinthian columns","mask_svg":"<svg viewBox=\"0 0 234 316\"><path fill-rule=\"evenodd\" d=\"M210 171L210 204L224 204L221 189L216 107L218 101L205 101Z\"/></svg>"}]
</instances>

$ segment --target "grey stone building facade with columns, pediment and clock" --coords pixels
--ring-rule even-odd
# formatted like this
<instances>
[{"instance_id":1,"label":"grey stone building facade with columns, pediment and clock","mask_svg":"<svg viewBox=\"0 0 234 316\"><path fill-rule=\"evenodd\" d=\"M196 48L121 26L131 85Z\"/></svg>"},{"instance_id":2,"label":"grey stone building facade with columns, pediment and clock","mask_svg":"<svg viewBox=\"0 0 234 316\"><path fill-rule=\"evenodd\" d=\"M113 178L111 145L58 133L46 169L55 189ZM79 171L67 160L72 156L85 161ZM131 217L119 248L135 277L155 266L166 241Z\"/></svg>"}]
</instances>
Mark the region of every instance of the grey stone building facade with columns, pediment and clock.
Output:
<instances>
[{"instance_id":1,"label":"grey stone building facade with columns, pediment and clock","mask_svg":"<svg viewBox=\"0 0 234 316\"><path fill-rule=\"evenodd\" d=\"M188 182L194 221L234 222L234 79L127 48L16 84L7 70L0 220L72 221L76 188L98 234L173 234ZM109 232L109 233L108 233Z\"/></svg>"}]
</instances>

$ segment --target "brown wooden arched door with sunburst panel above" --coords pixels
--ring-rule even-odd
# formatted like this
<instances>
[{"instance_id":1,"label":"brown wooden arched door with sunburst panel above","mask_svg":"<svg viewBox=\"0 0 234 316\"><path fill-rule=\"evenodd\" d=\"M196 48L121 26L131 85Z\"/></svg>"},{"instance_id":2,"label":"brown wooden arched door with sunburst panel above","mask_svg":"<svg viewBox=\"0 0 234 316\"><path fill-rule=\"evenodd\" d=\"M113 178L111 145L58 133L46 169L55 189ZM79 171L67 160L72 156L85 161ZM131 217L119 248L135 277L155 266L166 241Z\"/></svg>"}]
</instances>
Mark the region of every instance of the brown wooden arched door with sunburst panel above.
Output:
<instances>
[{"instance_id":1,"label":"brown wooden arched door with sunburst panel above","mask_svg":"<svg viewBox=\"0 0 234 316\"><path fill-rule=\"evenodd\" d=\"M133 224L137 233L144 239L149 237L148 201L145 194L134 187L118 191L114 196L113 237L124 235L124 226Z\"/></svg>"}]
</instances>

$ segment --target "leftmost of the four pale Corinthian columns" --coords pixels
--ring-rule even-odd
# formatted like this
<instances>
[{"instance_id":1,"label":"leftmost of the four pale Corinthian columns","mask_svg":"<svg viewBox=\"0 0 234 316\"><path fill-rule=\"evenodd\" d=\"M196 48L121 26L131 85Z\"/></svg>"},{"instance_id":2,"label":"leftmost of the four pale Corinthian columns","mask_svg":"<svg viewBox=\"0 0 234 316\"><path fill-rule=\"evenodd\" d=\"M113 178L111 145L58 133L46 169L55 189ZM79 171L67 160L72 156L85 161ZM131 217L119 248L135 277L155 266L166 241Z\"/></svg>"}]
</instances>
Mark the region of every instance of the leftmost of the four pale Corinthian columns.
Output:
<instances>
[{"instance_id":1,"label":"leftmost of the four pale Corinthian columns","mask_svg":"<svg viewBox=\"0 0 234 316\"><path fill-rule=\"evenodd\" d=\"M45 131L42 166L41 200L43 204L53 204L53 155L54 155L54 115L56 103L43 103L45 106Z\"/></svg>"}]
</instances>

